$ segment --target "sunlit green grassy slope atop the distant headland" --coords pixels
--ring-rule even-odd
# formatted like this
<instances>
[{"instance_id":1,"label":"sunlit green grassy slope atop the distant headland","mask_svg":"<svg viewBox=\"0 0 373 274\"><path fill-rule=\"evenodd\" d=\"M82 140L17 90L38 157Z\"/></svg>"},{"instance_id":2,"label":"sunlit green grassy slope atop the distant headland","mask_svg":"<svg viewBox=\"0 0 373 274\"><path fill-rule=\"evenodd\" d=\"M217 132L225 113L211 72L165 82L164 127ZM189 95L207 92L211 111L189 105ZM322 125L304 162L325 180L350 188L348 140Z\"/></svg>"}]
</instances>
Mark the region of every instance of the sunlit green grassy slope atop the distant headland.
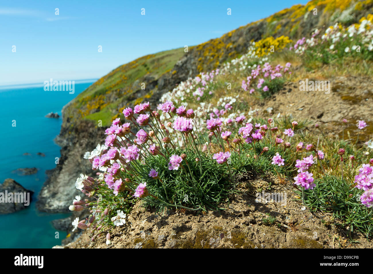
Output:
<instances>
[{"instance_id":1,"label":"sunlit green grassy slope atop the distant headland","mask_svg":"<svg viewBox=\"0 0 373 274\"><path fill-rule=\"evenodd\" d=\"M142 101L149 98L155 87L150 82L170 72L183 54L184 48L177 48L149 54L117 67L79 94L64 114L72 120L102 120L103 125L107 125L112 120L113 113L123 107L122 104L133 101L134 92L141 89L141 83L145 83L147 94L135 98L133 103L137 104L136 99Z\"/></svg>"}]
</instances>

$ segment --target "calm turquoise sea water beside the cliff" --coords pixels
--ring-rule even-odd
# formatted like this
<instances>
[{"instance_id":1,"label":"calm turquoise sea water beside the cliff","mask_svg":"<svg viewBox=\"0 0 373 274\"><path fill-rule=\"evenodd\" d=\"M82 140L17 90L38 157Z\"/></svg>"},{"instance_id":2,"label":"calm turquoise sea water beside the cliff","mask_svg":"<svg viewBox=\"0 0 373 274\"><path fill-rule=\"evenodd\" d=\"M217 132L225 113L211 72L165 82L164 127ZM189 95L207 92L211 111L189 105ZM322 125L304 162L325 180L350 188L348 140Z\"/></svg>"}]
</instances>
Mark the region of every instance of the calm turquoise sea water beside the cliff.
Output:
<instances>
[{"instance_id":1,"label":"calm turquoise sea water beside the cliff","mask_svg":"<svg viewBox=\"0 0 373 274\"><path fill-rule=\"evenodd\" d=\"M84 91L94 81L78 84L75 92L44 91L44 86L0 87L0 183L12 178L24 188L34 191L33 201L25 209L0 215L0 248L51 248L60 245L66 232L53 228L51 221L69 214L38 212L35 201L46 180L45 171L53 169L60 147L53 139L59 134L62 119L44 117L53 111L61 115L62 107ZM16 126L13 127L13 120ZM23 155L25 152L31 155ZM46 156L37 155L42 152ZM36 174L21 176L12 172L18 168L36 167ZM59 232L59 239L56 238Z\"/></svg>"}]
</instances>

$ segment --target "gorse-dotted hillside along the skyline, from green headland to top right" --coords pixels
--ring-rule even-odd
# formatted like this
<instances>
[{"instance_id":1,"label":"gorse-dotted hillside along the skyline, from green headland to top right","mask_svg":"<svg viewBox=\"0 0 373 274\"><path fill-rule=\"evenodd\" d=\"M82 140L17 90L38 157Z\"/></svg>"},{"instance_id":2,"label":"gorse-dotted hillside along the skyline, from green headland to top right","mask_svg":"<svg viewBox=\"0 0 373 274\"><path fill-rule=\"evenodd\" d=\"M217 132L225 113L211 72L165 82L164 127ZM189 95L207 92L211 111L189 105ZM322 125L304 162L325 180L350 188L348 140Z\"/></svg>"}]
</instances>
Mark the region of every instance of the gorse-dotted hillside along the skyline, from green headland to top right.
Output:
<instances>
[{"instance_id":1,"label":"gorse-dotted hillside along the skyline, from green headland to top right","mask_svg":"<svg viewBox=\"0 0 373 274\"><path fill-rule=\"evenodd\" d=\"M88 119L96 125L101 120L105 126L126 106L144 100L157 103L164 92L179 82L247 53L253 41L263 51L257 55L264 55L271 46L282 49L292 40L308 37L316 28L335 22L342 26L358 23L362 16L372 13L372 8L373 0L313 0L189 47L188 53L178 48L140 57L117 67L70 102L64 108L61 133L70 132L77 120ZM145 83L145 89L141 89L141 83Z\"/></svg>"}]
</instances>

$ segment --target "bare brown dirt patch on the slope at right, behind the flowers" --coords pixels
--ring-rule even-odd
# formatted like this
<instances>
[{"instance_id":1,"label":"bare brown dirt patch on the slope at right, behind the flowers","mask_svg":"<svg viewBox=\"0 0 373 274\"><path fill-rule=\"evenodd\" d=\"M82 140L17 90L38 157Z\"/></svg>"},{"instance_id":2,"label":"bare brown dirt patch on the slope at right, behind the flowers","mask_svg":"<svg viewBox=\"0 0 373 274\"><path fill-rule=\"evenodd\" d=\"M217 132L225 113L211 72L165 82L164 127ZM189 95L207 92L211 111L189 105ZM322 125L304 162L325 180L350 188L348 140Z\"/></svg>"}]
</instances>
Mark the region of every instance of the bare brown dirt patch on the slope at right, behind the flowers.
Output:
<instances>
[{"instance_id":1,"label":"bare brown dirt patch on the slope at right, behind the flowers","mask_svg":"<svg viewBox=\"0 0 373 274\"><path fill-rule=\"evenodd\" d=\"M295 120L312 122L309 127L318 124L326 133L342 137L342 129L345 128L345 133L349 131L353 139L358 131L359 140L373 139L372 79L339 76L328 80L331 86L329 94L325 94L325 91L300 91L298 82L288 82L278 94L253 108L260 109L261 117L269 117L270 114L276 116L278 113L281 116L292 115ZM347 119L348 123L344 124L343 119ZM357 120L365 120L368 126L363 131L358 130Z\"/></svg>"}]
</instances>

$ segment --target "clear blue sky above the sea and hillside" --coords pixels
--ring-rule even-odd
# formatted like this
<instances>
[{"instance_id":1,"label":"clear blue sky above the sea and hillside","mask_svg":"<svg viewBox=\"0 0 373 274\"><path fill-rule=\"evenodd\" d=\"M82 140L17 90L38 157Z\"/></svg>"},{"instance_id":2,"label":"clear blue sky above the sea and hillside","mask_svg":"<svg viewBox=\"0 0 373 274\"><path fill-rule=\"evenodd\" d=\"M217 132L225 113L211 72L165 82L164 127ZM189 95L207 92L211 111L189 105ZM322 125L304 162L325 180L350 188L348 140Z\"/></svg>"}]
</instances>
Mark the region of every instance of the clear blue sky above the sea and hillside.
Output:
<instances>
[{"instance_id":1,"label":"clear blue sky above the sea and hillside","mask_svg":"<svg viewBox=\"0 0 373 274\"><path fill-rule=\"evenodd\" d=\"M0 85L94 79L196 45L304 0L0 2ZM55 15L55 9L59 15ZM145 15L141 9L145 8ZM227 9L232 15L227 15ZM12 52L12 46L16 52ZM98 52L98 46L102 52Z\"/></svg>"}]
</instances>

